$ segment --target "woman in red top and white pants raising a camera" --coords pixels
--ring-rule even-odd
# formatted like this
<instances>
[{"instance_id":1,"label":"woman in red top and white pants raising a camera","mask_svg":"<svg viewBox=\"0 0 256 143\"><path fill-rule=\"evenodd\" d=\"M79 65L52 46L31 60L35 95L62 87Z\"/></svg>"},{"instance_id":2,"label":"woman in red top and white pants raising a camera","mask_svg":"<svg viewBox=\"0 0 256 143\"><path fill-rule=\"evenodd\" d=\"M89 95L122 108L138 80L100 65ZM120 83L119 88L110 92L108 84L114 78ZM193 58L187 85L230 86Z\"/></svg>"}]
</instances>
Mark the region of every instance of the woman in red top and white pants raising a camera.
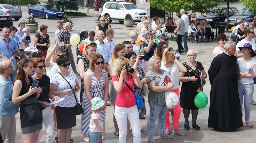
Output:
<instances>
[{"instance_id":1,"label":"woman in red top and white pants raising a camera","mask_svg":"<svg viewBox=\"0 0 256 143\"><path fill-rule=\"evenodd\" d=\"M133 87L135 84L142 88L143 84L134 70L134 68L129 66L129 61L124 57L116 59L112 67L112 84L117 92L115 117L119 128L120 143L131 140L130 138L126 139L127 118L131 124L133 142L141 142L139 112Z\"/></svg>"}]
</instances>

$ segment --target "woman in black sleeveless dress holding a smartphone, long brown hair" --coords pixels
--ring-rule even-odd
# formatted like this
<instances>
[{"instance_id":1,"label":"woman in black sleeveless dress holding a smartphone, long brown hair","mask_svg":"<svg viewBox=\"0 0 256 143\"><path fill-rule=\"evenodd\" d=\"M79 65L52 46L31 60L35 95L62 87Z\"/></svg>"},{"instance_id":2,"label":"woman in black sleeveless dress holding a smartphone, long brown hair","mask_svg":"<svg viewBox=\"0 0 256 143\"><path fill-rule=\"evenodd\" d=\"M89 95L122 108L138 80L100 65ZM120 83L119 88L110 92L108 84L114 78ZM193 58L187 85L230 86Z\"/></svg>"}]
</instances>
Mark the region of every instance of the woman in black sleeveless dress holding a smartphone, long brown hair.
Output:
<instances>
[{"instance_id":1,"label":"woman in black sleeveless dress holding a smartphone, long brown hair","mask_svg":"<svg viewBox=\"0 0 256 143\"><path fill-rule=\"evenodd\" d=\"M20 102L20 127L22 130L22 140L24 143L38 141L38 135L42 129L42 116L30 120L27 116L26 107L37 104L42 114L42 108L37 98L42 92L41 87L32 88L34 78L30 75L33 72L33 61L25 58L19 62L19 72L16 75L13 84L13 103Z\"/></svg>"}]
</instances>

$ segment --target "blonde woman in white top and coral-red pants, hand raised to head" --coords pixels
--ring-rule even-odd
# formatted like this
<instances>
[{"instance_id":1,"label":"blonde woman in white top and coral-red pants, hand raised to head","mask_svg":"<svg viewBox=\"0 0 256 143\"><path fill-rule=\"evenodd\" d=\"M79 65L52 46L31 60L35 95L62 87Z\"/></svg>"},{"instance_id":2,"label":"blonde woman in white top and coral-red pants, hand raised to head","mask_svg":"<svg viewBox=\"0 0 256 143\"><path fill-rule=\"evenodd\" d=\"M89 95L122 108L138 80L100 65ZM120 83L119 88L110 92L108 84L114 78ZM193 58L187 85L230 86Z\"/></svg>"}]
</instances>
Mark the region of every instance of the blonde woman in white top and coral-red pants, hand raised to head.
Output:
<instances>
[{"instance_id":1,"label":"blonde woman in white top and coral-red pants, hand raised to head","mask_svg":"<svg viewBox=\"0 0 256 143\"><path fill-rule=\"evenodd\" d=\"M165 70L172 77L172 92L175 92L179 97L179 83L180 83L180 71L187 72L187 69L176 59L174 55L174 50L171 48L166 48L163 52L163 57L161 61L161 69ZM172 114L173 121L173 134L185 136L185 133L179 131L179 121L181 116L181 104L180 102L175 105L173 109L170 110ZM165 133L169 134L170 128L170 112L167 111L165 116Z\"/></svg>"}]
</instances>

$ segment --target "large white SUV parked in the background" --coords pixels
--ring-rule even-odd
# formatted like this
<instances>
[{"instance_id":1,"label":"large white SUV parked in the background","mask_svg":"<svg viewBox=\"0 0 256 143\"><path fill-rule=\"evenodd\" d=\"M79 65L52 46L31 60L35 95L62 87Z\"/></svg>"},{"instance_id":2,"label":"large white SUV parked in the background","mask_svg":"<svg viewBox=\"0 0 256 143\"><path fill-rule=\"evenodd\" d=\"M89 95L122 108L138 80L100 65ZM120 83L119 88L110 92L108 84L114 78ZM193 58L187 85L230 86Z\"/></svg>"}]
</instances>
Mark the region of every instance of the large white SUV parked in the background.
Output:
<instances>
[{"instance_id":1,"label":"large white SUV parked in the background","mask_svg":"<svg viewBox=\"0 0 256 143\"><path fill-rule=\"evenodd\" d=\"M149 17L146 11L140 10L135 4L129 2L115 2L109 1L103 5L101 16L112 20L118 20L120 23L124 22L125 15L131 14L135 22L141 22L142 16Z\"/></svg>"}]
</instances>

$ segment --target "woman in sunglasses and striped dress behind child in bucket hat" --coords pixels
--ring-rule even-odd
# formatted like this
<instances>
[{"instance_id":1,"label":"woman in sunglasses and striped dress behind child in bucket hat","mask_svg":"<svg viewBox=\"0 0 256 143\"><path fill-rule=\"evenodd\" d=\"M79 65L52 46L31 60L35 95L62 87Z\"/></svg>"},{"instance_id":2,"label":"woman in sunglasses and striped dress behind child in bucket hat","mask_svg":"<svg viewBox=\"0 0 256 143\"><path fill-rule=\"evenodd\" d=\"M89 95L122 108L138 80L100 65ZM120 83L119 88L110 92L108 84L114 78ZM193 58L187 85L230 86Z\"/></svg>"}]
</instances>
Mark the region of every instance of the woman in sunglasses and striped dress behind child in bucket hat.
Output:
<instances>
[{"instance_id":1,"label":"woman in sunglasses and striped dress behind child in bucket hat","mask_svg":"<svg viewBox=\"0 0 256 143\"><path fill-rule=\"evenodd\" d=\"M81 133L87 134L87 137L90 140L89 135L89 125L90 125L90 109L91 109L91 100L94 97L99 97L100 99L104 100L105 103L102 106L101 116L102 116L102 123L103 123L103 130L105 130L105 116L106 116L106 101L109 94L109 77L105 70L102 68L104 67L104 59L100 54L95 54L91 57L89 69L86 71L84 75L84 113L83 119L81 120ZM102 142L102 134L99 137L99 143Z\"/></svg>"}]
</instances>

